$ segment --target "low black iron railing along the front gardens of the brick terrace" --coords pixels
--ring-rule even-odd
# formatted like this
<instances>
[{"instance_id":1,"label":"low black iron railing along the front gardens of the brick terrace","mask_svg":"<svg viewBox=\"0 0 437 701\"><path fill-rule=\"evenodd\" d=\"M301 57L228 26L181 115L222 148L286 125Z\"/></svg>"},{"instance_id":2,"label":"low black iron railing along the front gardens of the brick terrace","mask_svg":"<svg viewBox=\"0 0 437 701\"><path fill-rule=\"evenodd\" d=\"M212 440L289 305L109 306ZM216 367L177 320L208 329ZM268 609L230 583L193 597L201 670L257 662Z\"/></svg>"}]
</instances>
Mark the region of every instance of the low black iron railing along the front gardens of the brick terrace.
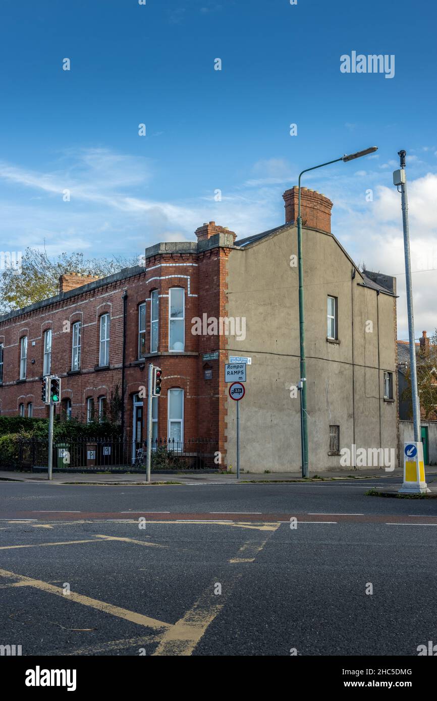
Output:
<instances>
[{"instance_id":1,"label":"low black iron railing along the front gardens of the brick terrace","mask_svg":"<svg viewBox=\"0 0 437 701\"><path fill-rule=\"evenodd\" d=\"M193 438L180 442L170 438L152 441L152 470L218 470L220 454L216 440ZM116 472L146 469L147 446L133 440L114 437L95 440L64 439L53 441L53 470ZM36 438L14 440L0 468L32 470L47 468L48 441Z\"/></svg>"}]
</instances>

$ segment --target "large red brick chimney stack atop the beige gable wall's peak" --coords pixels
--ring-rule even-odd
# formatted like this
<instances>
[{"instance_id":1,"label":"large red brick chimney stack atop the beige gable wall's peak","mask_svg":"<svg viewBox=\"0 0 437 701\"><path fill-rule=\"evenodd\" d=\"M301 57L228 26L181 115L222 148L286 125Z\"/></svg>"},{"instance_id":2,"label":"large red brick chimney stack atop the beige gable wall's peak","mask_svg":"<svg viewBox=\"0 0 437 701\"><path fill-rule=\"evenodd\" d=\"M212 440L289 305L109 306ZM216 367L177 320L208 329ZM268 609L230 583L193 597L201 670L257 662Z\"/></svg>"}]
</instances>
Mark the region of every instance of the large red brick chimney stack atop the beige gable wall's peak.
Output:
<instances>
[{"instance_id":1,"label":"large red brick chimney stack atop the beige gable wall's peak","mask_svg":"<svg viewBox=\"0 0 437 701\"><path fill-rule=\"evenodd\" d=\"M299 188L295 185L290 190L285 190L283 198L285 200L285 223L295 222L297 224ZM331 233L331 209L332 202L327 197L315 190L301 187L300 210L302 226Z\"/></svg>"}]
</instances>

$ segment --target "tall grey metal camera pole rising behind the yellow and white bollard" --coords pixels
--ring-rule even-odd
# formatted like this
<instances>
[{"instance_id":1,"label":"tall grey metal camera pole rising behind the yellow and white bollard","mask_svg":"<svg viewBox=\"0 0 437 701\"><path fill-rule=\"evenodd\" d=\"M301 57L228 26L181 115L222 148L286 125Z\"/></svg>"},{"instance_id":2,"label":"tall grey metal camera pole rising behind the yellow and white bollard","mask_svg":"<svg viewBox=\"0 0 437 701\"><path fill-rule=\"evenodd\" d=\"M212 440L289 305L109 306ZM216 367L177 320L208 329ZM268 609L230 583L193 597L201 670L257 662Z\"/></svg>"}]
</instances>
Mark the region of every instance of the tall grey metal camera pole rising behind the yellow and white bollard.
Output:
<instances>
[{"instance_id":1,"label":"tall grey metal camera pole rising behind the yellow and white bollard","mask_svg":"<svg viewBox=\"0 0 437 701\"><path fill-rule=\"evenodd\" d=\"M412 283L411 283L411 259L410 259L410 230L408 227L408 198L407 175L405 173L406 151L398 151L401 158L401 198L402 198L402 224L403 224L403 248L405 252L405 283L407 288L408 310L408 335L410 336L410 367L411 367L411 396L412 396L412 421L415 428L415 442L420 442L420 402L417 389L417 367L415 347L415 320L412 309Z\"/></svg>"}]
</instances>

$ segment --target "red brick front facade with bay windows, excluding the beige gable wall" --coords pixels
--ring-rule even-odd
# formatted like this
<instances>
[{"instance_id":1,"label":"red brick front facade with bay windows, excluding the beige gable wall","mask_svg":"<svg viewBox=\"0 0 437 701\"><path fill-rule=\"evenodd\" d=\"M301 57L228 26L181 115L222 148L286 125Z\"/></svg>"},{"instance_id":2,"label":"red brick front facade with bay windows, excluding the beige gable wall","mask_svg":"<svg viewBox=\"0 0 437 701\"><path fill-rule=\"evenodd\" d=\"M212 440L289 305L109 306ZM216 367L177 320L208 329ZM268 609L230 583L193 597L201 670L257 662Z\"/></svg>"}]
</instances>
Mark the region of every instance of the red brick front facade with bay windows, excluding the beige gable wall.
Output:
<instances>
[{"instance_id":1,"label":"red brick front facade with bay windows, excluding the beige gable wall","mask_svg":"<svg viewBox=\"0 0 437 701\"><path fill-rule=\"evenodd\" d=\"M191 319L226 315L236 235L215 222L196 235L196 243L149 247L144 265L107 278L62 275L56 297L1 317L1 414L48 416L41 379L57 374L60 411L82 420L108 415L118 392L126 434L140 441L153 362L163 370L154 437L209 438L224 451L225 338L192 334Z\"/></svg>"}]
</instances>

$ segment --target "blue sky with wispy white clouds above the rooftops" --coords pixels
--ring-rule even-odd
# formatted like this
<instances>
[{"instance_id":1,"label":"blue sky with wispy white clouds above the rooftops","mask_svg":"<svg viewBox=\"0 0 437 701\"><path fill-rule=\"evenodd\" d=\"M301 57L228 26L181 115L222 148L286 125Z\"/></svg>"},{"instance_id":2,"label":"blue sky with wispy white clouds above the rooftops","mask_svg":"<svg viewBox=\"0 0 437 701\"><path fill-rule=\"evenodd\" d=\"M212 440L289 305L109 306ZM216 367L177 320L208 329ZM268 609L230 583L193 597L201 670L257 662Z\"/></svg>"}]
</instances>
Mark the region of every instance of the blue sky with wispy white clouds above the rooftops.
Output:
<instances>
[{"instance_id":1,"label":"blue sky with wispy white clouds above the rooftops","mask_svg":"<svg viewBox=\"0 0 437 701\"><path fill-rule=\"evenodd\" d=\"M2 0L0 20L1 250L45 242L52 254L133 257L194 240L210 219L248 236L283 222L282 193L300 170L375 144L377 157L304 184L334 202L332 231L351 257L402 273L391 173L403 148L415 335L436 327L432 4ZM394 77L340 72L352 51L394 55ZM405 275L398 285L406 338Z\"/></svg>"}]
</instances>

